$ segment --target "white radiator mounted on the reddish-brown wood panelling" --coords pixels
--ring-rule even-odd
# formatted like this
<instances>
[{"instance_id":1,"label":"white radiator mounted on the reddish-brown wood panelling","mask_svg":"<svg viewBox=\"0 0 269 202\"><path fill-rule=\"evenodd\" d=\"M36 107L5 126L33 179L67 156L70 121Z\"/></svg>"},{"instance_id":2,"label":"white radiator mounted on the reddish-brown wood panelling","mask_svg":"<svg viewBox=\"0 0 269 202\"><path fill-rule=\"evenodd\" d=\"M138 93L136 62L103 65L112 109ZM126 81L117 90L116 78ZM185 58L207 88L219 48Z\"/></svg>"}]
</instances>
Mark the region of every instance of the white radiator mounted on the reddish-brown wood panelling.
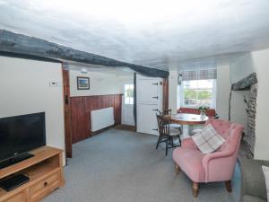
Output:
<instances>
[{"instance_id":1,"label":"white radiator mounted on the reddish-brown wood panelling","mask_svg":"<svg viewBox=\"0 0 269 202\"><path fill-rule=\"evenodd\" d=\"M91 110L91 131L95 132L105 127L114 125L113 108L104 108L101 110Z\"/></svg>"}]
</instances>

